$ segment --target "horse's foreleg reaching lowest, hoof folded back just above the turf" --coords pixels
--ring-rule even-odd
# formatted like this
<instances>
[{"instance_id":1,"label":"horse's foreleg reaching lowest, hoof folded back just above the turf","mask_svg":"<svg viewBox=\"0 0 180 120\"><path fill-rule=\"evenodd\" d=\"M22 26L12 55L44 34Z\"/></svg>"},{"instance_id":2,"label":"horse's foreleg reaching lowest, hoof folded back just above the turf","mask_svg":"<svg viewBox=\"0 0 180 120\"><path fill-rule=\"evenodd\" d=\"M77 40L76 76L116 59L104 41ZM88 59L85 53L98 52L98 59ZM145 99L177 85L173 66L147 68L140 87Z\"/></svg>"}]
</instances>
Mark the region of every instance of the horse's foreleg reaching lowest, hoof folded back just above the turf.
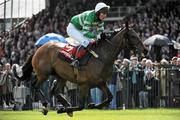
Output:
<instances>
[{"instance_id":1,"label":"horse's foreleg reaching lowest, hoof folded back just above the turf","mask_svg":"<svg viewBox=\"0 0 180 120\"><path fill-rule=\"evenodd\" d=\"M78 106L68 107L64 110L59 110L58 113L80 111L80 110L84 109L85 101L86 101L86 98L87 98L88 92L89 92L89 86L81 85L79 88L80 88L80 95L78 96L79 97Z\"/></svg>"}]
</instances>

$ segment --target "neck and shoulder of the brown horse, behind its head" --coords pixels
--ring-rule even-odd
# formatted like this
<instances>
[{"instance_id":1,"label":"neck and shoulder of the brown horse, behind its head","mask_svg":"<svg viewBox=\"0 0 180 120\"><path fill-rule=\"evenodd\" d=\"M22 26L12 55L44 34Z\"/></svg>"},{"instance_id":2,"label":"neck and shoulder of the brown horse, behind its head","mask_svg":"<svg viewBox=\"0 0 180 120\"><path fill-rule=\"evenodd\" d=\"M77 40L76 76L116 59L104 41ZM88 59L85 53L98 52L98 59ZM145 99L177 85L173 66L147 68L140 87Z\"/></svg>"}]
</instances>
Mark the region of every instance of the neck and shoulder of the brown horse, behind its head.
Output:
<instances>
[{"instance_id":1,"label":"neck and shoulder of the brown horse, behind its head","mask_svg":"<svg viewBox=\"0 0 180 120\"><path fill-rule=\"evenodd\" d=\"M95 52L99 55L99 58L95 59L92 57L89 64L88 70L90 70L94 75L97 75L97 78L99 75L102 79L107 79L107 77L111 76L114 61L122 49L122 40L119 35L113 37L111 42L113 45L107 41L102 41L102 43L99 44L100 46L95 50Z\"/></svg>"}]
</instances>

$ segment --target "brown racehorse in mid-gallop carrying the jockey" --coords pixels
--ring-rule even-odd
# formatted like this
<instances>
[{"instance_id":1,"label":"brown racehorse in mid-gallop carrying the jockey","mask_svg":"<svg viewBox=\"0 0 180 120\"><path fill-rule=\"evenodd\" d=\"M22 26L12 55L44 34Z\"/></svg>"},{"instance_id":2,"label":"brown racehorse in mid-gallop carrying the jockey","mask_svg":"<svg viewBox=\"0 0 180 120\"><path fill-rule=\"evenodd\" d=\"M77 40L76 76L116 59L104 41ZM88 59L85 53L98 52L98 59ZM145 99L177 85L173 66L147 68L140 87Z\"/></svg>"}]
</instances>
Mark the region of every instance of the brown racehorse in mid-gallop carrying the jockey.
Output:
<instances>
[{"instance_id":1,"label":"brown racehorse in mid-gallop carrying the jockey","mask_svg":"<svg viewBox=\"0 0 180 120\"><path fill-rule=\"evenodd\" d=\"M113 63L120 51L123 48L146 50L137 33L126 25L126 27L112 36L110 40L101 40L96 46L91 48L91 50L98 54L98 58L91 56L86 66L81 66L81 69L75 70L68 62L58 57L58 51L62 49L58 44L57 42L48 42L41 46L32 58L32 66L37 77L34 83L37 89L52 73L58 77L60 86L63 86L66 81L79 85L79 103L76 107L71 107L65 98L56 94L56 97L59 98L65 107L59 110L59 113L73 113L73 111L84 109L89 90L94 87L98 87L106 99L100 104L91 103L88 107L101 109L108 105L113 96L106 82L107 78L112 74ZM46 115L48 112L47 101L44 99L42 91L39 92L41 93L42 103L45 107L43 114Z\"/></svg>"}]
</instances>

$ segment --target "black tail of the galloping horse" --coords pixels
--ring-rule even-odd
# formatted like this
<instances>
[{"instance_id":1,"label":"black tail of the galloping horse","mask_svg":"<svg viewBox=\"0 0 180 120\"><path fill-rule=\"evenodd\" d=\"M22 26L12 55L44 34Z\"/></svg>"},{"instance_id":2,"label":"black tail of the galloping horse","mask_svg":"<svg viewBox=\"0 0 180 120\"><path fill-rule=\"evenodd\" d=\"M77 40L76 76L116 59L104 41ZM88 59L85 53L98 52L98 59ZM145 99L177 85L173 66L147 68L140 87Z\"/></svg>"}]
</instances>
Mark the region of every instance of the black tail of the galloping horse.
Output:
<instances>
[{"instance_id":1,"label":"black tail of the galloping horse","mask_svg":"<svg viewBox=\"0 0 180 120\"><path fill-rule=\"evenodd\" d=\"M24 81L30 79L31 73L33 71L32 63L31 63L33 55L34 54L31 54L21 67L19 67L19 65L17 64L14 64L12 66L12 71L14 73L14 76L18 80Z\"/></svg>"}]
</instances>

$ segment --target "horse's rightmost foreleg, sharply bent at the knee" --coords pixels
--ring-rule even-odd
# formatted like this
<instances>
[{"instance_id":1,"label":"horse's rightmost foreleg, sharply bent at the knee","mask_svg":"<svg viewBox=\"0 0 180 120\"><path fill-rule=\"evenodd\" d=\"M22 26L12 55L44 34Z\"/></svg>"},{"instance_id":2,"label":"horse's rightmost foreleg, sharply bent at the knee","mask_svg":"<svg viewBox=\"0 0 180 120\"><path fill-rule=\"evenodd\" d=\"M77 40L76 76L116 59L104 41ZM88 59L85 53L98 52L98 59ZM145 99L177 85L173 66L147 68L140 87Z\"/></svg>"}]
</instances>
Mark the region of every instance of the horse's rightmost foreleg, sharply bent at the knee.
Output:
<instances>
[{"instance_id":1,"label":"horse's rightmost foreleg, sharply bent at the knee","mask_svg":"<svg viewBox=\"0 0 180 120\"><path fill-rule=\"evenodd\" d=\"M109 88L108 88L106 83L101 84L99 86L99 89L103 92L103 94L105 95L106 99L102 103L97 104L97 105L89 104L88 108L91 108L91 109L93 109L93 108L102 109L104 106L110 104L110 102L112 101L113 96L112 96L112 94L111 94L111 92L110 92L110 90L109 90Z\"/></svg>"}]
</instances>

